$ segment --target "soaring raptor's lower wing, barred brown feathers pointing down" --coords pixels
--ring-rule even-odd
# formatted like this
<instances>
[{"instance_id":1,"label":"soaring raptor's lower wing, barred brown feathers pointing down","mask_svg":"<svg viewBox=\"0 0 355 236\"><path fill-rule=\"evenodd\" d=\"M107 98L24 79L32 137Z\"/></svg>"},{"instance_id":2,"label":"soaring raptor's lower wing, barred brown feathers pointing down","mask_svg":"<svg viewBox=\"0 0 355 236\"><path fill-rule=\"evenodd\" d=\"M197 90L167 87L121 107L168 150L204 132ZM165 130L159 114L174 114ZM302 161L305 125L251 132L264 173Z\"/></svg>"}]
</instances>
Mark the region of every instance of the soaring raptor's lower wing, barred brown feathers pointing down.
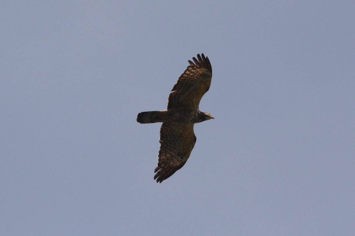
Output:
<instances>
[{"instance_id":1,"label":"soaring raptor's lower wing, barred brown feathers pointing down","mask_svg":"<svg viewBox=\"0 0 355 236\"><path fill-rule=\"evenodd\" d=\"M196 143L193 124L163 123L159 142L158 166L154 171L154 179L157 179L157 183L162 183L184 166L189 158Z\"/></svg>"}]
</instances>

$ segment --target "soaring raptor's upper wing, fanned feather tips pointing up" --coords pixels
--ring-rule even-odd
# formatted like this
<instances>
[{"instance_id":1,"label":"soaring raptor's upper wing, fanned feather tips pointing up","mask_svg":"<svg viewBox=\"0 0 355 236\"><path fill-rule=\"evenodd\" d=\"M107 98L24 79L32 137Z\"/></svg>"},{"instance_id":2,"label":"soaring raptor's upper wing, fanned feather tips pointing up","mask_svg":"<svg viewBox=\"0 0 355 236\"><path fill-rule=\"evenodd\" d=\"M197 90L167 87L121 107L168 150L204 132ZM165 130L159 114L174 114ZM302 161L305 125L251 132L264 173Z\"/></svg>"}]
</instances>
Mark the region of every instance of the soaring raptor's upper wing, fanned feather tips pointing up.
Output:
<instances>
[{"instance_id":1,"label":"soaring raptor's upper wing, fanned feather tips pointing up","mask_svg":"<svg viewBox=\"0 0 355 236\"><path fill-rule=\"evenodd\" d=\"M212 79L212 67L208 57L203 53L192 58L190 65L182 73L169 95L168 109L173 107L198 108L200 100L205 94Z\"/></svg>"}]
</instances>

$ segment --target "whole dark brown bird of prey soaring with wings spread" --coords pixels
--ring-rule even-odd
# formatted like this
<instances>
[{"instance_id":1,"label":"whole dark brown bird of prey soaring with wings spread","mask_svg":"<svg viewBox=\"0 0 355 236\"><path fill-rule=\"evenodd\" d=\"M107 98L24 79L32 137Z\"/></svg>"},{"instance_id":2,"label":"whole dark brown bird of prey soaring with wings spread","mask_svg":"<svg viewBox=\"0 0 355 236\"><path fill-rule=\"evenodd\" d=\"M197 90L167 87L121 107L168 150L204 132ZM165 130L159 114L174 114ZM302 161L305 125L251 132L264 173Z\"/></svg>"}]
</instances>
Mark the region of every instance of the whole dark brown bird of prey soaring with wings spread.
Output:
<instances>
[{"instance_id":1,"label":"whole dark brown bird of prey soaring with wings spread","mask_svg":"<svg viewBox=\"0 0 355 236\"><path fill-rule=\"evenodd\" d=\"M160 150L158 166L154 179L157 183L169 178L185 165L196 136L193 124L214 119L211 114L198 109L212 79L212 67L208 57L197 54L174 85L168 99L168 109L163 111L146 111L137 115L139 123L163 122L160 128Z\"/></svg>"}]
</instances>

